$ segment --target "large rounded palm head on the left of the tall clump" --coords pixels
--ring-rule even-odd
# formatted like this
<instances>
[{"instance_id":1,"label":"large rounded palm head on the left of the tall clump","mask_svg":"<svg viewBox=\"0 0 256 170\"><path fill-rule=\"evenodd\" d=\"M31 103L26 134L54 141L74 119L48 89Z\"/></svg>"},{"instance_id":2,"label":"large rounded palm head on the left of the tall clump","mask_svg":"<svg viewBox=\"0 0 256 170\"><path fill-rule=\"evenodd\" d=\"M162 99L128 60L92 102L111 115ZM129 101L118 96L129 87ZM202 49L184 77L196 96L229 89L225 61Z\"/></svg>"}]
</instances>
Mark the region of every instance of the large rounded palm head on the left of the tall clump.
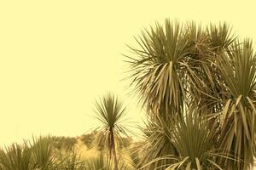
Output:
<instances>
[{"instance_id":1,"label":"large rounded palm head on the left of the tall clump","mask_svg":"<svg viewBox=\"0 0 256 170\"><path fill-rule=\"evenodd\" d=\"M131 60L131 79L140 101L149 111L166 112L172 107L173 114L183 111L186 96L181 74L191 43L184 26L166 20L165 26L145 30L136 38L140 48L131 48L136 54ZM172 105L172 106L171 106Z\"/></svg>"}]
</instances>

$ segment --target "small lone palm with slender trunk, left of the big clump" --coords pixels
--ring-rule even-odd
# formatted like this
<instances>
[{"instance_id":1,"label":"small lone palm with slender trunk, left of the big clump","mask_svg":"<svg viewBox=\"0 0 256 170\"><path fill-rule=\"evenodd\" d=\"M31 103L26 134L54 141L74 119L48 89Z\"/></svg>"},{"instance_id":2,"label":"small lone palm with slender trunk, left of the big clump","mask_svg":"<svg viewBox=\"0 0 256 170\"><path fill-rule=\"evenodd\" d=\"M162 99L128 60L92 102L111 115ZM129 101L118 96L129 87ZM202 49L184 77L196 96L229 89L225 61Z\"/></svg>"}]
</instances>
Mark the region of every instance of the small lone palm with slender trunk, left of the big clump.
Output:
<instances>
[{"instance_id":1,"label":"small lone palm with slender trunk, left of the big clump","mask_svg":"<svg viewBox=\"0 0 256 170\"><path fill-rule=\"evenodd\" d=\"M124 121L125 107L123 102L113 94L107 94L99 101L96 101L96 118L102 123L98 127L96 135L98 146L107 146L109 156L113 156L114 169L118 170L117 144L122 139L122 135L127 136L127 129L121 123Z\"/></svg>"}]
</instances>

